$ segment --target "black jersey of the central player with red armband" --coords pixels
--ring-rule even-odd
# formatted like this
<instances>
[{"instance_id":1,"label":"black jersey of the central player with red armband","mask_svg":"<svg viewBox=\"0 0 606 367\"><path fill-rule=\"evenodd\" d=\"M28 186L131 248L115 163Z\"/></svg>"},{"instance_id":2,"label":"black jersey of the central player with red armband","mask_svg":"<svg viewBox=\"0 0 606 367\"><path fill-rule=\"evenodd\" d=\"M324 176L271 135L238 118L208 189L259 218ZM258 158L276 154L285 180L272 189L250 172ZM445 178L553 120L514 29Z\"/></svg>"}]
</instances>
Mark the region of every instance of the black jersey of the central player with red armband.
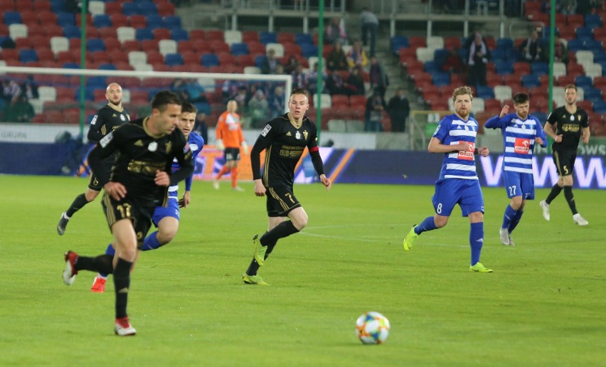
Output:
<instances>
[{"instance_id":1,"label":"black jersey of the central player with red armband","mask_svg":"<svg viewBox=\"0 0 606 367\"><path fill-rule=\"evenodd\" d=\"M306 116L297 129L289 114L278 116L267 122L255 142L255 148L265 150L263 184L267 187L294 183L294 169L305 147L309 151L318 149L316 125ZM252 167L253 179L261 179L258 169Z\"/></svg>"}]
</instances>

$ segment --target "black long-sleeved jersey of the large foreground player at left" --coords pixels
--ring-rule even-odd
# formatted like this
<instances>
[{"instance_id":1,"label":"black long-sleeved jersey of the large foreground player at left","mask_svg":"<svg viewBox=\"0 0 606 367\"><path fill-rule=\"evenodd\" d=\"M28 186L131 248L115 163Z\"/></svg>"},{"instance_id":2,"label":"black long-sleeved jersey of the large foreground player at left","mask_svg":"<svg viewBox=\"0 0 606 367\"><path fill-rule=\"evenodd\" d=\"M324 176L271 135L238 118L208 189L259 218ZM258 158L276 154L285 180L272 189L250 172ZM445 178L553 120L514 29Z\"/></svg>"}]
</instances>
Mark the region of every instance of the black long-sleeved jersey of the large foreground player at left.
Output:
<instances>
[{"instance_id":1,"label":"black long-sleeved jersey of the large foreground player at left","mask_svg":"<svg viewBox=\"0 0 606 367\"><path fill-rule=\"evenodd\" d=\"M117 152L109 181L119 182L127 189L127 196L146 206L164 206L168 187L154 182L156 171L166 171L171 176L171 185L186 179L193 172L191 150L180 129L161 137L150 134L145 128L145 119L136 119L108 133L90 152L89 161L95 171L105 156ZM181 169L171 173L173 159ZM100 178L100 185L107 184Z\"/></svg>"}]
</instances>

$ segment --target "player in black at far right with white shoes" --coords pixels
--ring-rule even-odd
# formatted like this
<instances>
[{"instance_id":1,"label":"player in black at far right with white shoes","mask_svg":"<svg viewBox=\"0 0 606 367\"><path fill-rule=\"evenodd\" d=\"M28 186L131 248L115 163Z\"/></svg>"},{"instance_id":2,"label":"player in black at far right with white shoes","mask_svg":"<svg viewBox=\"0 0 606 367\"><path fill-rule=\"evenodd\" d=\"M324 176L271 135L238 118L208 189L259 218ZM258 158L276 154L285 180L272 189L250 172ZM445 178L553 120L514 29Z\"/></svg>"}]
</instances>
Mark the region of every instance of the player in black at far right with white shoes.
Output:
<instances>
[{"instance_id":1,"label":"player in black at far right with white shoes","mask_svg":"<svg viewBox=\"0 0 606 367\"><path fill-rule=\"evenodd\" d=\"M588 225L589 222L580 216L577 211L575 197L573 196L573 170L575 168L579 140L583 139L583 143L585 144L589 142L589 119L587 112L577 106L577 87L572 84L566 85L564 92L566 104L556 108L549 114L544 128L546 134L553 139L551 151L560 178L551 188L551 192L546 200L541 201L539 205L543 209L543 218L549 220L549 204L563 189L566 202L570 207L570 211L573 212L574 223Z\"/></svg>"}]
</instances>

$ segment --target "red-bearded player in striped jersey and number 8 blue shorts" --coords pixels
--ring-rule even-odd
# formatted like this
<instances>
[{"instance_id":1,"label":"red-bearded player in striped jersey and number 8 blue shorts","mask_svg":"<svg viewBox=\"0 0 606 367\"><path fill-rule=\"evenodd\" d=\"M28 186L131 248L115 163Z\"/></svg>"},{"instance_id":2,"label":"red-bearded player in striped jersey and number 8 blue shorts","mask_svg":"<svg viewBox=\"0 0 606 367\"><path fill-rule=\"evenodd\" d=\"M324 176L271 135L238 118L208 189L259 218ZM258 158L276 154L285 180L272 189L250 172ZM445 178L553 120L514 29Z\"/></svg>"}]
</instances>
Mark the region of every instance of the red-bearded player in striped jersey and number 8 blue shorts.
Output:
<instances>
[{"instance_id":1,"label":"red-bearded player in striped jersey and number 8 blue shorts","mask_svg":"<svg viewBox=\"0 0 606 367\"><path fill-rule=\"evenodd\" d=\"M480 260L484 244L484 198L476 173L475 154L488 156L487 147L475 147L478 122L469 115L473 95L470 87L458 87L452 92L454 114L445 116L438 124L427 150L445 154L440 179L435 182L432 203L435 215L413 225L404 239L404 250L415 245L418 236L428 230L442 228L448 223L454 205L458 204L464 217L469 217L470 272L492 272Z\"/></svg>"}]
</instances>

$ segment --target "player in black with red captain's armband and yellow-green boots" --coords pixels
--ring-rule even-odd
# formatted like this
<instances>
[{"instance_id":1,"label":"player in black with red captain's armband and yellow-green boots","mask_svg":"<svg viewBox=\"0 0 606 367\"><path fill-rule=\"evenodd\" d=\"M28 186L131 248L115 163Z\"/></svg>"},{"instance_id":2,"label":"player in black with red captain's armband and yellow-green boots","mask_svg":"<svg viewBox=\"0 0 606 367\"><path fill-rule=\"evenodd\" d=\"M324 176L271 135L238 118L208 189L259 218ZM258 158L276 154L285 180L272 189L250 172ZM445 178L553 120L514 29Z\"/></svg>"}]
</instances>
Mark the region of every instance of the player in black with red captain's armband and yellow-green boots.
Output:
<instances>
[{"instance_id":1,"label":"player in black with red captain's armband and yellow-green boots","mask_svg":"<svg viewBox=\"0 0 606 367\"><path fill-rule=\"evenodd\" d=\"M294 169L305 147L312 157L314 169L326 191L331 181L324 174L324 164L320 156L316 125L305 116L309 109L309 95L306 90L295 89L290 94L289 112L267 122L250 151L252 179L255 181L255 195L267 194L267 232L252 238L255 252L248 270L242 276L246 284L267 284L257 270L274 249L277 240L297 233L307 225L307 213L294 197ZM265 149L265 167L260 173L260 154ZM289 218L290 220L287 220Z\"/></svg>"}]
</instances>

